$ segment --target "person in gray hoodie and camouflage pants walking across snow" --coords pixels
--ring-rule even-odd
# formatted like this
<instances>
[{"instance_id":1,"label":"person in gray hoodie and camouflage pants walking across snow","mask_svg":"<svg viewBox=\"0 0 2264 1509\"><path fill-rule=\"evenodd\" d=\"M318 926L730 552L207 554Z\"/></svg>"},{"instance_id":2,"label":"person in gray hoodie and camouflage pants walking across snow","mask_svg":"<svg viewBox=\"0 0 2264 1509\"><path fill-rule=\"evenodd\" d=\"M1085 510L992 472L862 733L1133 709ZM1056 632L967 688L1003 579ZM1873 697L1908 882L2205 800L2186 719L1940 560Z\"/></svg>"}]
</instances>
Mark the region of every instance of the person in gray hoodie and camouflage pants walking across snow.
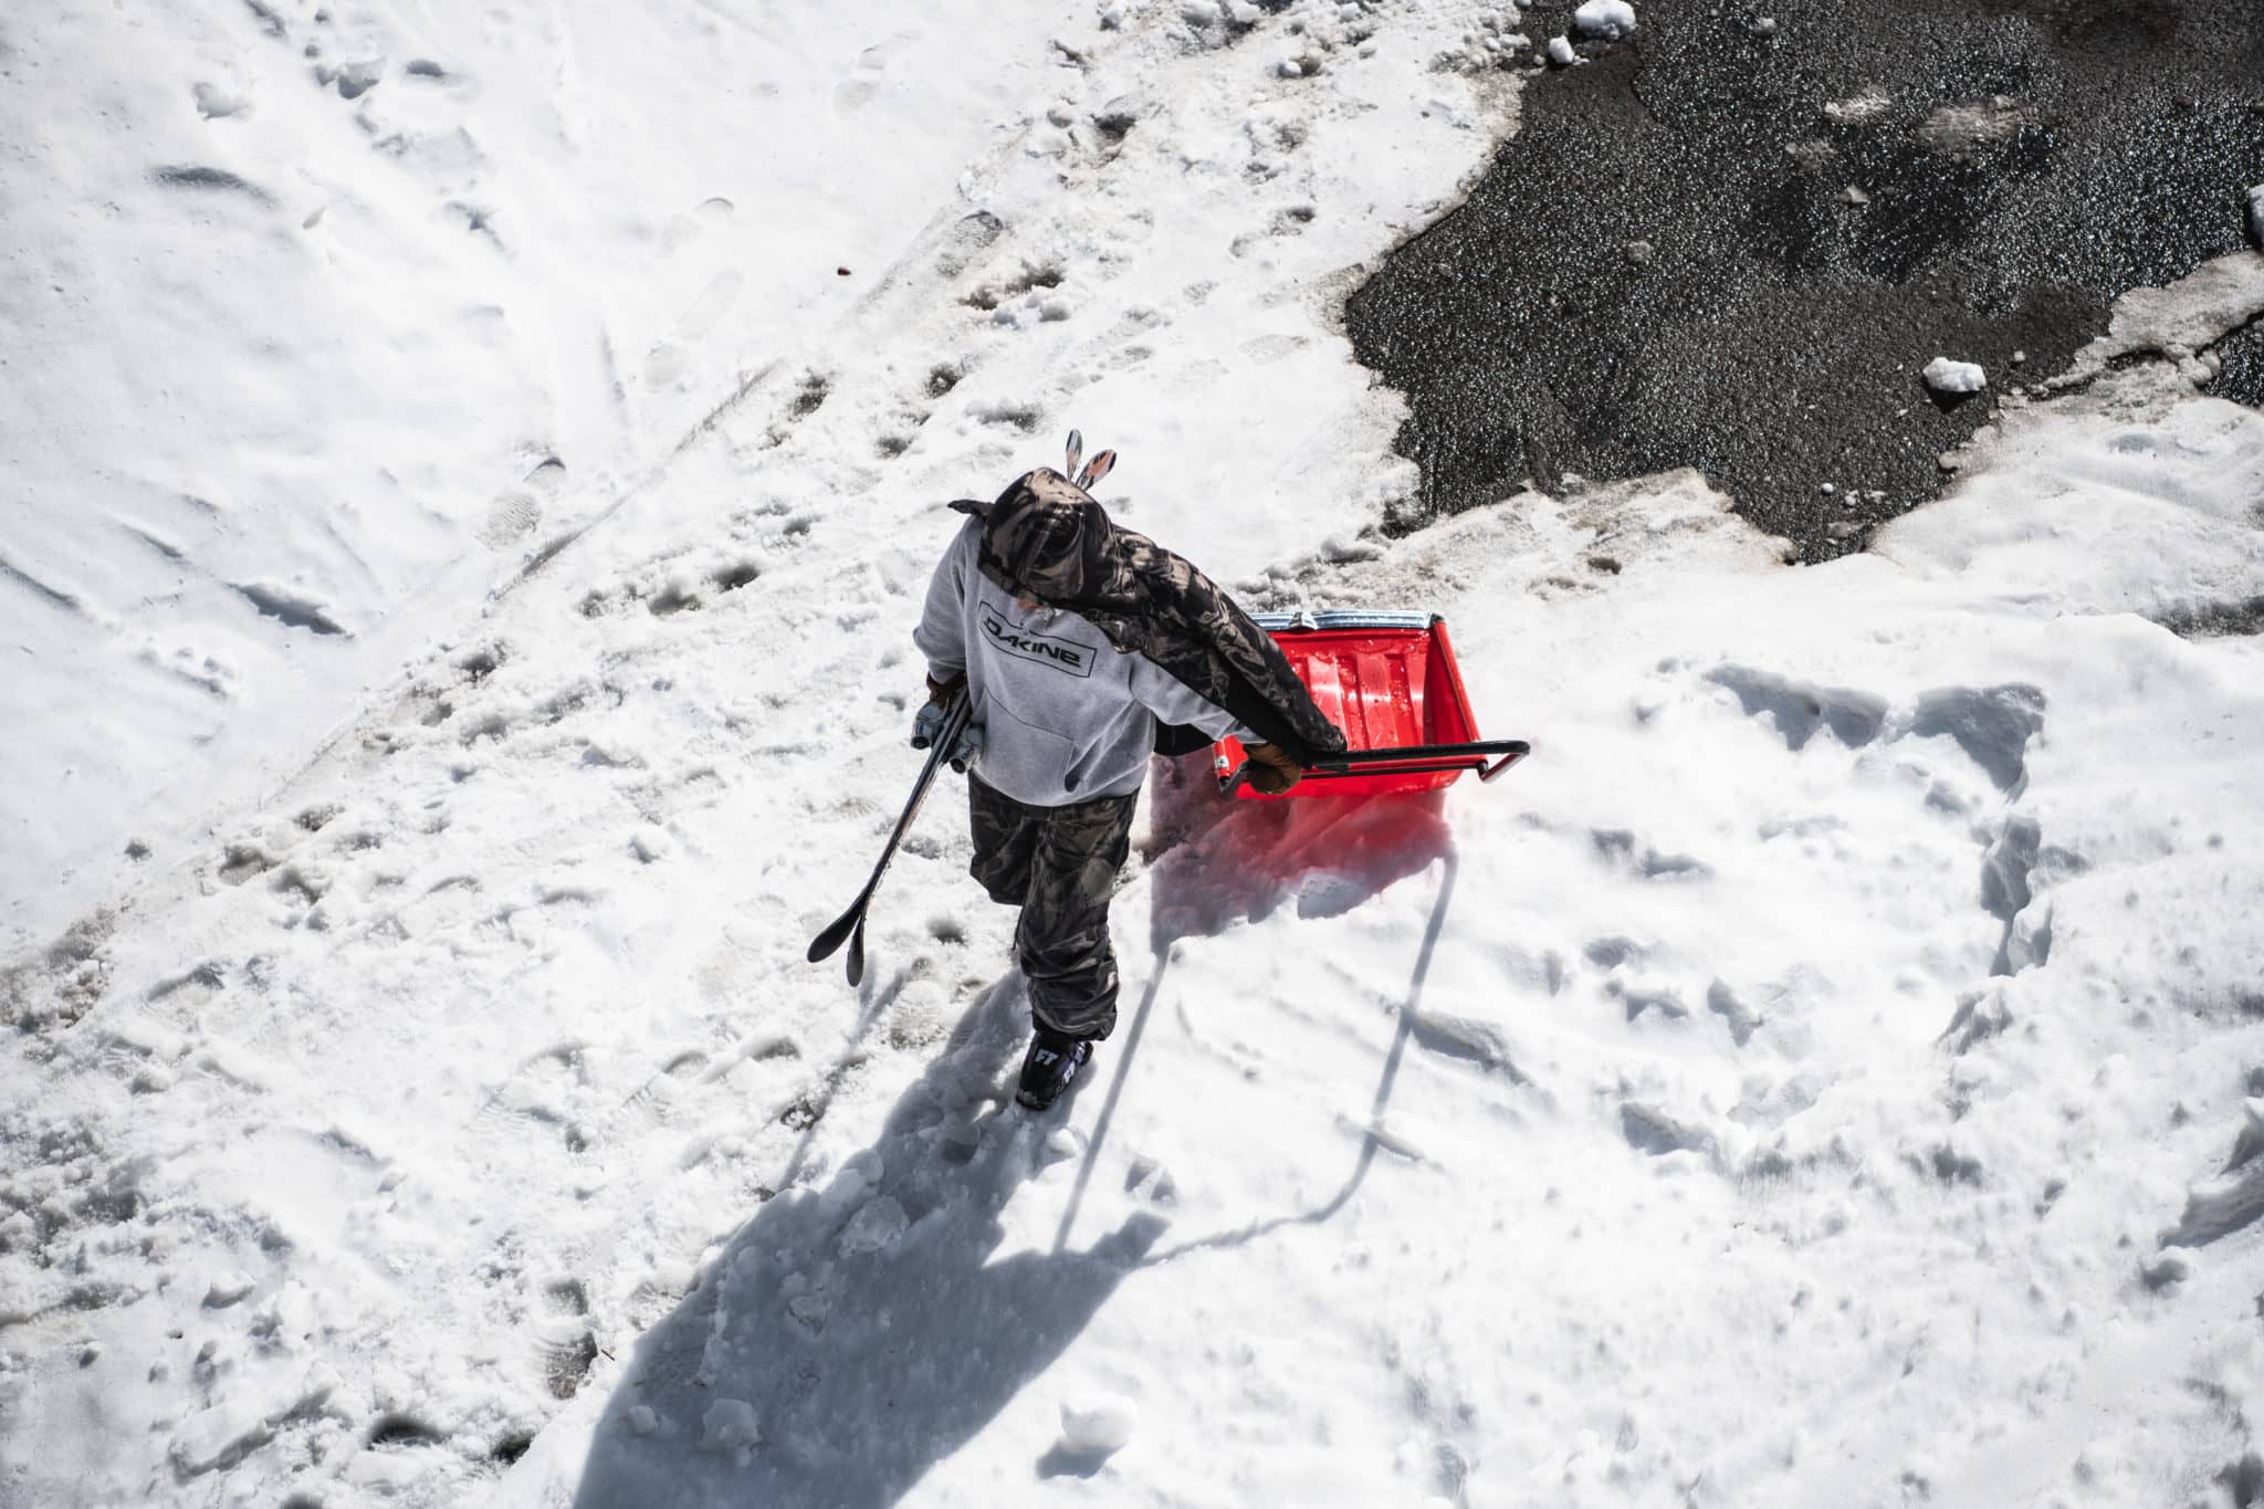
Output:
<instances>
[{"instance_id":1,"label":"person in gray hoodie and camouflage pants walking across snow","mask_svg":"<svg viewBox=\"0 0 2264 1509\"><path fill-rule=\"evenodd\" d=\"M1075 457L1071 437L1071 471ZM928 663L915 742L974 699L949 753L969 765L969 871L1021 907L1032 1032L1017 1100L1044 1111L1116 1025L1109 894L1148 756L1232 733L1250 783L1281 794L1345 735L1225 590L1112 523L1080 482L1041 466L994 502L951 507L969 518L912 631Z\"/></svg>"}]
</instances>

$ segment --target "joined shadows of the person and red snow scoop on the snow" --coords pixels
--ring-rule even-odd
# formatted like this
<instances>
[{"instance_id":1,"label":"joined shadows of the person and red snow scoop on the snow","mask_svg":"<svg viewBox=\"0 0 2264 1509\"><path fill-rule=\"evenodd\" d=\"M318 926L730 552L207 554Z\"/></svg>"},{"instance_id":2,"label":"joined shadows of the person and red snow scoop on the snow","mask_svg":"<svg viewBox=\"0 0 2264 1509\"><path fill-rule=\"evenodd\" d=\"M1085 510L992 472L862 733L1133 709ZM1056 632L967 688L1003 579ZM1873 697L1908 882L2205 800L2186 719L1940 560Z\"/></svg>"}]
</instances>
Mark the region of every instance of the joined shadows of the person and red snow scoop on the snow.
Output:
<instances>
[{"instance_id":1,"label":"joined shadows of the person and red snow scoop on the snow","mask_svg":"<svg viewBox=\"0 0 2264 1509\"><path fill-rule=\"evenodd\" d=\"M998 1215L1046 1165L1055 1129L1050 1118L1001 1109L1028 1032L1021 977L1007 973L969 1004L869 1149L824 1190L790 1188L763 1204L700 1287L645 1333L595 1416L575 1509L885 1509L901 1500L1053 1366L1166 1228L1143 1210L1082 1251L1066 1247L1116 1095L1137 1072L1173 943L1288 900L1333 916L1444 857L1415 995L1377 1086L1381 1118L1453 894L1435 796L1227 803L1204 781L1198 760L1157 765L1150 828L1168 853L1150 862L1152 968L1112 1041L1118 1066L1053 1249L992 1260L1005 1238ZM867 998L867 1025L885 998ZM1175 1251L1327 1219L1358 1188L1377 1145L1363 1138L1327 1206ZM1055 1448L1035 1473L1087 1475L1103 1459Z\"/></svg>"}]
</instances>

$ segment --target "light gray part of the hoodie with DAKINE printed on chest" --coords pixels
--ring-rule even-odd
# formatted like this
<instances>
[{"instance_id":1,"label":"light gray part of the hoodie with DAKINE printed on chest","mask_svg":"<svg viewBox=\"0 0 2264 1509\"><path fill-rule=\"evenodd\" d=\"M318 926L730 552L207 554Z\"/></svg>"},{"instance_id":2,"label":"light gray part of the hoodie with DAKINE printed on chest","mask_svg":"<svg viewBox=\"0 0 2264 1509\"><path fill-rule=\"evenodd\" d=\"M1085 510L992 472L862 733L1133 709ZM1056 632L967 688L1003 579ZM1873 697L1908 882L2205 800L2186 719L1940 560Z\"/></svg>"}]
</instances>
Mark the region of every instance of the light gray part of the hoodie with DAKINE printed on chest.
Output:
<instances>
[{"instance_id":1,"label":"light gray part of the hoodie with DAKINE printed on chest","mask_svg":"<svg viewBox=\"0 0 2264 1509\"><path fill-rule=\"evenodd\" d=\"M1078 613L1023 609L983 575L983 520L935 566L912 643L937 681L967 672L983 724L976 774L1032 808L1127 796L1148 774L1157 719L1257 740L1143 654L1123 654Z\"/></svg>"}]
</instances>

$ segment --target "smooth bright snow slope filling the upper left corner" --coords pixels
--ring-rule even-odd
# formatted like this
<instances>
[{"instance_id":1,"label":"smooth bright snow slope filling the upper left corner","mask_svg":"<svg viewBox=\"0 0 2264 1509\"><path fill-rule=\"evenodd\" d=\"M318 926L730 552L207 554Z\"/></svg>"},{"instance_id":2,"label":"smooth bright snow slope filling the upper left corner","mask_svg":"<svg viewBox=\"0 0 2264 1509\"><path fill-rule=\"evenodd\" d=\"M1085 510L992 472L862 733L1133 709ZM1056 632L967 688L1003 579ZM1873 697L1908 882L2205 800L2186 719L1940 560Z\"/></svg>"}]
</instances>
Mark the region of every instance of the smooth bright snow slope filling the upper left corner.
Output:
<instances>
[{"instance_id":1,"label":"smooth bright snow slope filling the upper left corner","mask_svg":"<svg viewBox=\"0 0 2264 1509\"><path fill-rule=\"evenodd\" d=\"M0 20L0 941L129 842L179 862L718 403L822 371L1060 14Z\"/></svg>"}]
</instances>

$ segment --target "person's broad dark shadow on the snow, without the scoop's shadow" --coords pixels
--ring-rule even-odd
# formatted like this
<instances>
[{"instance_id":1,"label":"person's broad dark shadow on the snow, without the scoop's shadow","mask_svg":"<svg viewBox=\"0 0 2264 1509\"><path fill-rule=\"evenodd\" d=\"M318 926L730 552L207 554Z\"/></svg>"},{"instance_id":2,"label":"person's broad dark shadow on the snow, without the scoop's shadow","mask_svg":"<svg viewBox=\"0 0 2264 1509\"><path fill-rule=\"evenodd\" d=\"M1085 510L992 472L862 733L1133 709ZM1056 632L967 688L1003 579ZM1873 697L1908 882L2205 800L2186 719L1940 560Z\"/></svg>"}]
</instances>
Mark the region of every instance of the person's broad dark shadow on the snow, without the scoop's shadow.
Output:
<instances>
[{"instance_id":1,"label":"person's broad dark shadow on the snow, without the scoop's shadow","mask_svg":"<svg viewBox=\"0 0 2264 1509\"><path fill-rule=\"evenodd\" d=\"M985 991L867 1152L734 1233L623 1369L577 1509L883 1509L1084 1330L1164 1224L992 1260L1048 1158L996 1109L1026 1011L1017 977Z\"/></svg>"}]
</instances>

